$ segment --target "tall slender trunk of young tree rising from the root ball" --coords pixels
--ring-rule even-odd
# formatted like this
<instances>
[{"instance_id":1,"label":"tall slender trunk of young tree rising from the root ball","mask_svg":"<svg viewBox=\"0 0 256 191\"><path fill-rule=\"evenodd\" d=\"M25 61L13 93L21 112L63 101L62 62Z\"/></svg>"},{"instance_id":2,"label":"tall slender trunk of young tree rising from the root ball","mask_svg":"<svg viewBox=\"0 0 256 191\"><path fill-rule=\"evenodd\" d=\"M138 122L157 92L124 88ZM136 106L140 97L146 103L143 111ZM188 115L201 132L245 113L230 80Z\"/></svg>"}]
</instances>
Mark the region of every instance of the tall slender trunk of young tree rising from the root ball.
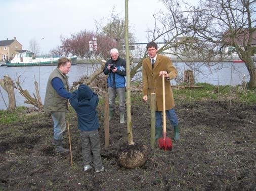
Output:
<instances>
[{"instance_id":1,"label":"tall slender trunk of young tree rising from the root ball","mask_svg":"<svg viewBox=\"0 0 256 191\"><path fill-rule=\"evenodd\" d=\"M127 109L127 139L129 145L134 145L131 113L131 74L130 74L130 50L128 33L128 0L125 0L125 60L126 60L126 109Z\"/></svg>"}]
</instances>

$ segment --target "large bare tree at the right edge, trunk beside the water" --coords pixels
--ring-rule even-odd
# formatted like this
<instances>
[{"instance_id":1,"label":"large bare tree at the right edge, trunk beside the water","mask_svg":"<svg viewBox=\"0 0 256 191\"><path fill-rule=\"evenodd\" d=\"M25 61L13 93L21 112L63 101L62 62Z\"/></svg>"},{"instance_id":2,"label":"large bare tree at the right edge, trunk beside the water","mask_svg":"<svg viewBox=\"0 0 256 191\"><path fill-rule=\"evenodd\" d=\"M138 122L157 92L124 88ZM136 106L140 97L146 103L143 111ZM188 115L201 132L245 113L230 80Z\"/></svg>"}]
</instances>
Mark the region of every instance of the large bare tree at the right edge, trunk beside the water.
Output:
<instances>
[{"instance_id":1,"label":"large bare tree at the right edge, trunk beside the water","mask_svg":"<svg viewBox=\"0 0 256 191\"><path fill-rule=\"evenodd\" d=\"M170 4L170 0L164 0ZM212 46L234 47L249 72L249 87L256 88L256 67L253 52L256 42L255 0L201 0L198 7L187 7L190 19L198 22L191 25L196 36Z\"/></svg>"}]
</instances>

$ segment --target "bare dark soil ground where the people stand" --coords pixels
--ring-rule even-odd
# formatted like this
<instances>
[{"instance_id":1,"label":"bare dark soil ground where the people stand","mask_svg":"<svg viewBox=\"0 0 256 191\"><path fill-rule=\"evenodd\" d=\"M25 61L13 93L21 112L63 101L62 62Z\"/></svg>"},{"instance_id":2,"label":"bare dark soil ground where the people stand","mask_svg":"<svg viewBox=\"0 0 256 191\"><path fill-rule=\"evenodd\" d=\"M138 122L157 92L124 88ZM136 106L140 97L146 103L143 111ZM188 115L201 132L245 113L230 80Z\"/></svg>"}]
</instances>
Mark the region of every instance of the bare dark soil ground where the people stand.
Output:
<instances>
[{"instance_id":1,"label":"bare dark soil ground where the people stand","mask_svg":"<svg viewBox=\"0 0 256 191\"><path fill-rule=\"evenodd\" d=\"M70 155L52 146L52 118L32 114L0 128L0 190L256 190L256 104L228 101L176 100L181 140L173 150L149 149L146 163L136 169L118 166L116 152L127 142L126 124L110 122L110 147L104 149L103 108L99 108L105 172L83 172L74 113L68 113ZM132 104L133 136L149 147L149 106ZM167 137L174 132L167 121ZM65 146L68 135L65 131Z\"/></svg>"}]
</instances>

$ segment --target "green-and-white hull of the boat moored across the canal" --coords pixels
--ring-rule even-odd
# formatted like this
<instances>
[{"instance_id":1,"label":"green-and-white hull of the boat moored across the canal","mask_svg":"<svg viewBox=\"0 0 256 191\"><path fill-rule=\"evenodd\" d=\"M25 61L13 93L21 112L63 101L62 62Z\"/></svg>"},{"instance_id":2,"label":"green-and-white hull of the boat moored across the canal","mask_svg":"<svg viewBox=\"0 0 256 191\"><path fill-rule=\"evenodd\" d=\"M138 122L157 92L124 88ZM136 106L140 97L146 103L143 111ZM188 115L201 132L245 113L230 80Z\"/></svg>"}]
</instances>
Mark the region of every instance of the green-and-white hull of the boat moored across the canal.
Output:
<instances>
[{"instance_id":1,"label":"green-and-white hull of the boat moored across the canal","mask_svg":"<svg viewBox=\"0 0 256 191\"><path fill-rule=\"evenodd\" d=\"M76 58L71 57L71 65L76 65ZM34 66L56 66L58 64L58 60L53 61L41 61L41 62L29 62L29 63L6 63L7 67L34 67Z\"/></svg>"}]
</instances>

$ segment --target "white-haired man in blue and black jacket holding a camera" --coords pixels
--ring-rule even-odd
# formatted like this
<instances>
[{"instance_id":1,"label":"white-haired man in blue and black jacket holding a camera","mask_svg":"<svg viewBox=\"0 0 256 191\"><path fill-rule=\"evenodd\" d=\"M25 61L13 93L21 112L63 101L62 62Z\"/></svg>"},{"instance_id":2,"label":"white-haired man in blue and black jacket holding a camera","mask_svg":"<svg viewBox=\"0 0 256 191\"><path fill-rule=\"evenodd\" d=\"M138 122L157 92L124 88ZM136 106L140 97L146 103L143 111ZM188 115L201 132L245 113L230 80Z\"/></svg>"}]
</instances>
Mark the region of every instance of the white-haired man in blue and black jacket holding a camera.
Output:
<instances>
[{"instance_id":1,"label":"white-haired man in blue and black jacket holding a camera","mask_svg":"<svg viewBox=\"0 0 256 191\"><path fill-rule=\"evenodd\" d=\"M126 61L119 57L116 48L110 50L111 58L106 62L104 74L108 75L109 120L115 113L115 97L118 95L120 123L124 123L125 112L125 86L126 86Z\"/></svg>"}]
</instances>

